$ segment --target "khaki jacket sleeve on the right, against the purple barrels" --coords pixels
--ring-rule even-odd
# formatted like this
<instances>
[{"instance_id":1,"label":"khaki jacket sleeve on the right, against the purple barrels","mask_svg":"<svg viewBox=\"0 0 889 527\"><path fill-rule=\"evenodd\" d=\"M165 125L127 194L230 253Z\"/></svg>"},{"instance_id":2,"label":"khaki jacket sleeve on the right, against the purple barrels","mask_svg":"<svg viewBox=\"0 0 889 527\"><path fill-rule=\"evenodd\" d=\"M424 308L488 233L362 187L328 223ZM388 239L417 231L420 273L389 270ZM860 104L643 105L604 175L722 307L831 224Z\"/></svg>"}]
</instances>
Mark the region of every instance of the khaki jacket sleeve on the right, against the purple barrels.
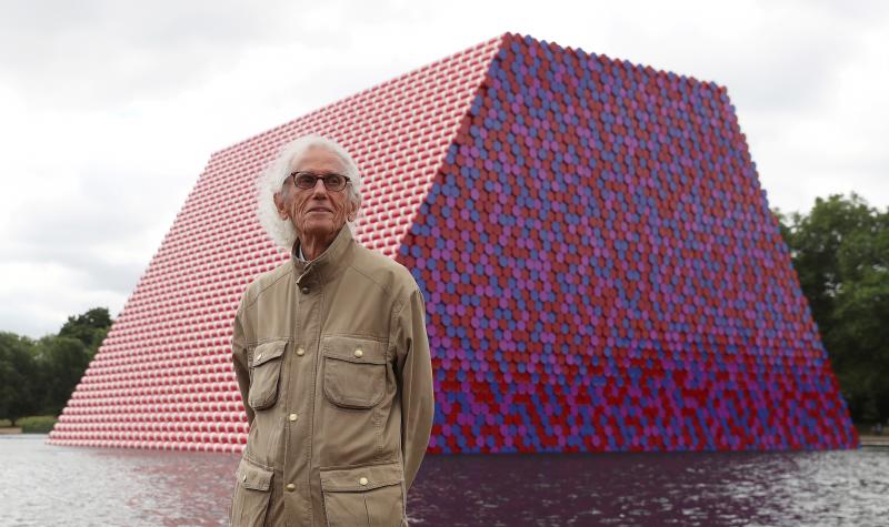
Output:
<instances>
[{"instance_id":1,"label":"khaki jacket sleeve on the right, against the purple barrels","mask_svg":"<svg viewBox=\"0 0 889 527\"><path fill-rule=\"evenodd\" d=\"M410 489L429 446L434 413L432 359L426 335L426 307L414 288L393 320L397 376L401 393L401 457Z\"/></svg>"}]
</instances>

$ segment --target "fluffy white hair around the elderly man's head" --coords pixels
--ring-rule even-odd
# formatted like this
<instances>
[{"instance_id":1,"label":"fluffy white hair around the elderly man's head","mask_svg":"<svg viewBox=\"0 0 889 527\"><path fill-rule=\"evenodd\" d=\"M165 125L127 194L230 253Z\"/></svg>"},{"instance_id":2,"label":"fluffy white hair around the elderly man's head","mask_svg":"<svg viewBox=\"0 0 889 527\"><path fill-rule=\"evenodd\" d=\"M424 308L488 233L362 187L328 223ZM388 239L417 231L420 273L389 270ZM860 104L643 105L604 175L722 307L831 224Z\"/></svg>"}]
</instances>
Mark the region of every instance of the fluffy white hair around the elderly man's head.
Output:
<instances>
[{"instance_id":1,"label":"fluffy white hair around the elderly man's head","mask_svg":"<svg viewBox=\"0 0 889 527\"><path fill-rule=\"evenodd\" d=\"M339 143L321 135L310 134L284 144L278 156L269 163L257 181L257 215L269 237L287 251L290 251L293 242L297 241L297 230L290 220L281 220L281 216L278 215L273 196L276 192L281 192L284 181L290 175L293 160L312 148L322 148L342 160L346 168L346 173L342 175L349 178L347 186L349 201L356 206L361 203L361 174L358 172L358 165L352 161L352 156ZM354 233L357 220L358 217L356 221L348 222L352 233Z\"/></svg>"}]
</instances>

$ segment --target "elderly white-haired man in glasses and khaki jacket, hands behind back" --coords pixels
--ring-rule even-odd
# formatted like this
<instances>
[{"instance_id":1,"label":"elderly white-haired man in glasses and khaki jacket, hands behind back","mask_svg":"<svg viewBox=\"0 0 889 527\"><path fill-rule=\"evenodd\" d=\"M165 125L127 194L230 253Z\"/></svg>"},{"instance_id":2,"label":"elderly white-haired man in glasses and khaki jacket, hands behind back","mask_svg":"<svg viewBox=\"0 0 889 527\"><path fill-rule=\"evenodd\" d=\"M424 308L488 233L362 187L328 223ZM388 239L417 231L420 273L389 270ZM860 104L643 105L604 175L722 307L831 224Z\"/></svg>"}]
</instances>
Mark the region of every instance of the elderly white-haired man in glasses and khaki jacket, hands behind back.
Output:
<instances>
[{"instance_id":1,"label":"elderly white-haired man in glasses and khaki jacket, hands behind back","mask_svg":"<svg viewBox=\"0 0 889 527\"><path fill-rule=\"evenodd\" d=\"M360 190L350 155L317 135L286 145L261 180L260 221L291 257L247 287L234 317L250 423L234 526L407 525L433 412L423 297L352 239Z\"/></svg>"}]
</instances>

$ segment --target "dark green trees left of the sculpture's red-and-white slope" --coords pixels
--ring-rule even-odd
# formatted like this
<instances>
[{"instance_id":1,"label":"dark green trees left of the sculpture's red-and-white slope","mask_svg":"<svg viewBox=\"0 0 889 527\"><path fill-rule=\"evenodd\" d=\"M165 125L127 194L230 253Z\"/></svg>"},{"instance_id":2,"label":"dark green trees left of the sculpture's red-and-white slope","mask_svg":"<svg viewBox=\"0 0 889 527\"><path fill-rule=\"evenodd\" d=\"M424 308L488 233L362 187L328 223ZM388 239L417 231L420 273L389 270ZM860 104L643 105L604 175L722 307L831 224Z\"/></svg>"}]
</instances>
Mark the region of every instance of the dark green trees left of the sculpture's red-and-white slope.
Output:
<instances>
[{"instance_id":1,"label":"dark green trees left of the sculpture's red-and-white slope","mask_svg":"<svg viewBox=\"0 0 889 527\"><path fill-rule=\"evenodd\" d=\"M112 322L94 307L39 339L0 332L0 419L59 415Z\"/></svg>"}]
</instances>

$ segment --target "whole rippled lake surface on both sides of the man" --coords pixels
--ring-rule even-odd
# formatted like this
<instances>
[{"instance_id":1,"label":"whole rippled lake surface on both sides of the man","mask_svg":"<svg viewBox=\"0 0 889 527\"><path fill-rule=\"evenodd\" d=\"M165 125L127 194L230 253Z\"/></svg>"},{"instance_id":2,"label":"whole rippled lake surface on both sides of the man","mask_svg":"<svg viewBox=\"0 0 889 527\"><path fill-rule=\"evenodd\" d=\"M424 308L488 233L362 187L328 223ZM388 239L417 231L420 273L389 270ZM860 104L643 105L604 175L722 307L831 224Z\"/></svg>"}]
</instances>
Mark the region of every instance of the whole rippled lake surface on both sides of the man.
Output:
<instances>
[{"instance_id":1,"label":"whole rippled lake surface on both sides of the man","mask_svg":"<svg viewBox=\"0 0 889 527\"><path fill-rule=\"evenodd\" d=\"M0 436L0 525L226 525L237 456ZM428 456L412 525L889 526L889 450Z\"/></svg>"}]
</instances>

